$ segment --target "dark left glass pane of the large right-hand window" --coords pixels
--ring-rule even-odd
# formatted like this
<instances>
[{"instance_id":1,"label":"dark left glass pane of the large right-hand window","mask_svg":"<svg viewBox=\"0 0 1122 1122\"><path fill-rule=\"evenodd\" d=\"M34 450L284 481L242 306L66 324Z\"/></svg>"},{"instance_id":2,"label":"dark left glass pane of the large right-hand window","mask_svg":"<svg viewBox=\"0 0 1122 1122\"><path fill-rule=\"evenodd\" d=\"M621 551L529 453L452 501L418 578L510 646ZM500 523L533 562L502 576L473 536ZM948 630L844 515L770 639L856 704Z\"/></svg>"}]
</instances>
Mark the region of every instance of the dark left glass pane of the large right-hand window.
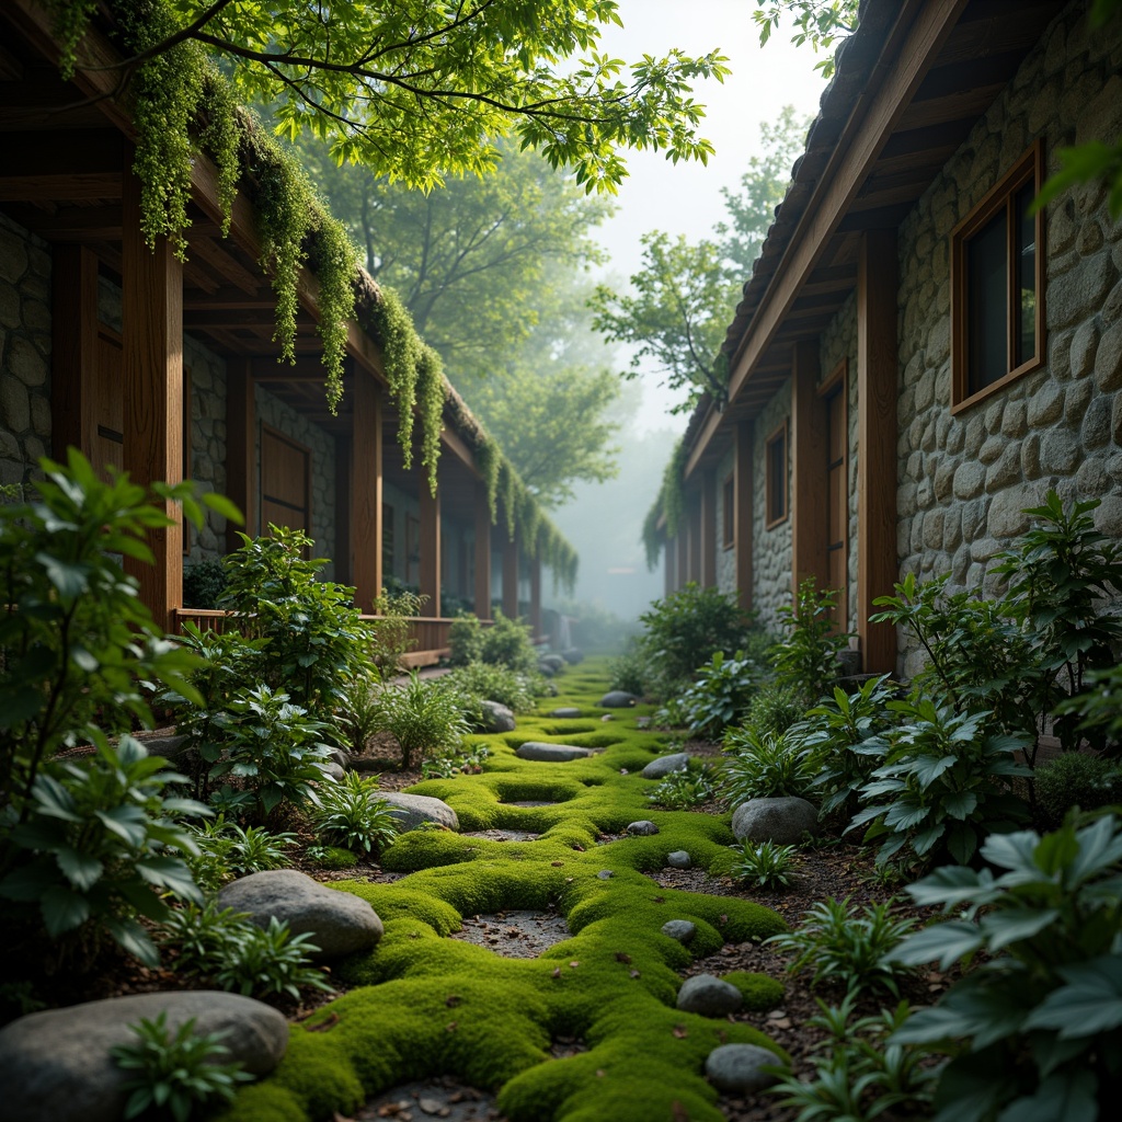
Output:
<instances>
[{"instance_id":1,"label":"dark left glass pane of the large right-hand window","mask_svg":"<svg viewBox=\"0 0 1122 1122\"><path fill-rule=\"evenodd\" d=\"M1005 215L1005 210L1000 211L966 243L968 380L972 394L1003 378L1010 370Z\"/></svg>"}]
</instances>

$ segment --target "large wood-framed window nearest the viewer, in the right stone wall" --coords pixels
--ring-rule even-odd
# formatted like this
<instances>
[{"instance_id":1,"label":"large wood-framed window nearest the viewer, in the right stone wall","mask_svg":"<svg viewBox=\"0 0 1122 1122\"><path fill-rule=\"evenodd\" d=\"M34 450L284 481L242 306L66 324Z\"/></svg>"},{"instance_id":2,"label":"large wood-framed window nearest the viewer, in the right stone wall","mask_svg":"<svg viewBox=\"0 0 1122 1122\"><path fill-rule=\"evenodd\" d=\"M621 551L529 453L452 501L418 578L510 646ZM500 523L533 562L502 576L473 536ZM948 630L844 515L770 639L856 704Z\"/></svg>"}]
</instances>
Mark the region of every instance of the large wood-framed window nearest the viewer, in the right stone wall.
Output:
<instances>
[{"instance_id":1,"label":"large wood-framed window nearest the viewer, in the right stone wall","mask_svg":"<svg viewBox=\"0 0 1122 1122\"><path fill-rule=\"evenodd\" d=\"M951 412L1043 361L1042 169L1038 141L951 231Z\"/></svg>"}]
</instances>

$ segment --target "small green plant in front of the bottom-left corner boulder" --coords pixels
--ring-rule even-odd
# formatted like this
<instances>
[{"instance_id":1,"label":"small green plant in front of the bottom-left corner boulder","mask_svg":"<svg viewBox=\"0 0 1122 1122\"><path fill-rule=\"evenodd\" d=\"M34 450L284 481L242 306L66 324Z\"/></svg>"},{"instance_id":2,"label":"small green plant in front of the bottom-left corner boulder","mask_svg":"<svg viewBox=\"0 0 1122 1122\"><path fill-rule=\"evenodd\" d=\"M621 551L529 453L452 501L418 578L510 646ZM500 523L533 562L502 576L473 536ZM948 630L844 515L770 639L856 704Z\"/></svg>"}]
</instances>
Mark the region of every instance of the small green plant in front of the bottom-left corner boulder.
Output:
<instances>
[{"instance_id":1,"label":"small green plant in front of the bottom-left corner boulder","mask_svg":"<svg viewBox=\"0 0 1122 1122\"><path fill-rule=\"evenodd\" d=\"M195 1032L195 1019L184 1021L174 1032L167 1013L150 1021L142 1018L129 1029L137 1039L114 1045L109 1054L126 1073L129 1092L125 1118L135 1119L151 1110L166 1111L175 1122L186 1122L196 1107L233 1102L239 1083L252 1076L240 1061L219 1063L230 1049L222 1043L226 1032Z\"/></svg>"}]
</instances>

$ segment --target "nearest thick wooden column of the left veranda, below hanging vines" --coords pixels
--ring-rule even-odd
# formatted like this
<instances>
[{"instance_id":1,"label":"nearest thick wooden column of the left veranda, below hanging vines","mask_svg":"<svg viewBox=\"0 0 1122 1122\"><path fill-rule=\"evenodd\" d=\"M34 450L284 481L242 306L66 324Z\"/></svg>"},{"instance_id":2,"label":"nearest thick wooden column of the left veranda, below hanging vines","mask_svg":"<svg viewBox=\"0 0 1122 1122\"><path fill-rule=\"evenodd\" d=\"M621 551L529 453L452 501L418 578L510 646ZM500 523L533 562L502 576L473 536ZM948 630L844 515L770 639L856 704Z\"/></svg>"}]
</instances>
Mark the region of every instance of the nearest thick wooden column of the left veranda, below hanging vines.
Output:
<instances>
[{"instance_id":1,"label":"nearest thick wooden column of the left veranda, below hanging vines","mask_svg":"<svg viewBox=\"0 0 1122 1122\"><path fill-rule=\"evenodd\" d=\"M126 156L131 164L131 151ZM122 200L122 389L125 470L147 486L183 478L183 264L166 238L156 248L140 232L140 181L125 173ZM171 629L172 609L183 599L183 525L178 507L165 508L173 524L148 534L154 564L125 559L140 583L140 601Z\"/></svg>"}]
</instances>

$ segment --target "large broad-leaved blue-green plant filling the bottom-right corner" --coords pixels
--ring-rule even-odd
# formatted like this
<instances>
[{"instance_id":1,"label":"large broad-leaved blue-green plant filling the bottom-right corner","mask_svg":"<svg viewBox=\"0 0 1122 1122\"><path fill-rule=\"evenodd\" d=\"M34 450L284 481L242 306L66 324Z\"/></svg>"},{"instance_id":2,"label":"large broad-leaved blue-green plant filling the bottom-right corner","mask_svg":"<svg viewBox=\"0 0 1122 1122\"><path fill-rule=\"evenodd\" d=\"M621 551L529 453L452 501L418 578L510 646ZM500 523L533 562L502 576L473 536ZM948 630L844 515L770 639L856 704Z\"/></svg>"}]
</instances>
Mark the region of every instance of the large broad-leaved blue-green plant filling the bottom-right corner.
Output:
<instances>
[{"instance_id":1,"label":"large broad-leaved blue-green plant filling the bottom-right corner","mask_svg":"<svg viewBox=\"0 0 1122 1122\"><path fill-rule=\"evenodd\" d=\"M912 935L895 962L986 957L892 1042L951 1051L937 1122L1110 1118L1122 1075L1122 830L1107 816L995 835L981 856L987 867L939 868L908 890L959 918Z\"/></svg>"}]
</instances>

